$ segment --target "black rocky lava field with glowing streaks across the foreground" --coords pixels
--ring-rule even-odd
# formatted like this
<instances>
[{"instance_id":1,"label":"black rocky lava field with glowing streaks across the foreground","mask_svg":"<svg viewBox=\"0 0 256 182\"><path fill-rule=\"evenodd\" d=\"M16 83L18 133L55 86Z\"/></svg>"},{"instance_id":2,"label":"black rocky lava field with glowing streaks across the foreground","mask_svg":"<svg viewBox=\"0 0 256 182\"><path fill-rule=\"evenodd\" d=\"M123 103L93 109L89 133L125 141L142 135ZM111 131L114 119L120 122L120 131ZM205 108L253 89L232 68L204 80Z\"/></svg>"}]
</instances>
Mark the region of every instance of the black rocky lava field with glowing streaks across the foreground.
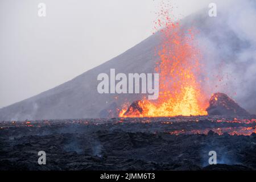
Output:
<instances>
[{"instance_id":1,"label":"black rocky lava field with glowing streaks across the foreground","mask_svg":"<svg viewBox=\"0 0 256 182\"><path fill-rule=\"evenodd\" d=\"M0 170L255 170L255 125L249 117L1 122Z\"/></svg>"}]
</instances>

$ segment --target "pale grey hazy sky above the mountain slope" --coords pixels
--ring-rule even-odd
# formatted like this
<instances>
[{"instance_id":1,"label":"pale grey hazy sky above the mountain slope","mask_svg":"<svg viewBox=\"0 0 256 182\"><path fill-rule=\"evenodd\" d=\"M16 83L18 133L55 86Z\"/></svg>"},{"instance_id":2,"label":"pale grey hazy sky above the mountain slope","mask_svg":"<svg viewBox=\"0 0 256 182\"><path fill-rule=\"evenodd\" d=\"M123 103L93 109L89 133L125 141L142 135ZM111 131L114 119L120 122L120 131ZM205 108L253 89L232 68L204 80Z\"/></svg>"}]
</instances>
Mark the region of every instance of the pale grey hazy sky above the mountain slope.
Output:
<instances>
[{"instance_id":1,"label":"pale grey hazy sky above the mountain slope","mask_svg":"<svg viewBox=\"0 0 256 182\"><path fill-rule=\"evenodd\" d=\"M38 4L46 3L46 17ZM1 0L0 107L51 89L153 32L158 0ZM169 1L182 18L205 0Z\"/></svg>"}]
</instances>

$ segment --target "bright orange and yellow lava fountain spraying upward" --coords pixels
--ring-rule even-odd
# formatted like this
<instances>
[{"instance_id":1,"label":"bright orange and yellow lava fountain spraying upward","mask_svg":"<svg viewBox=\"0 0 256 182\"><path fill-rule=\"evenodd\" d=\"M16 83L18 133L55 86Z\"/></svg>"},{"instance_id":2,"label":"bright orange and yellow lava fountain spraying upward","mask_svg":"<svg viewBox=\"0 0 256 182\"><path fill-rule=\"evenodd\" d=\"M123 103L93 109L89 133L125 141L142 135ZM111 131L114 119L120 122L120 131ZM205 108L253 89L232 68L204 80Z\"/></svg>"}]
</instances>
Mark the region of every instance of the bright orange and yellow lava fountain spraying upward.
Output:
<instances>
[{"instance_id":1,"label":"bright orange and yellow lava fountain spraying upward","mask_svg":"<svg viewBox=\"0 0 256 182\"><path fill-rule=\"evenodd\" d=\"M194 39L193 28L184 30L173 22L167 11L164 20L155 23L161 29L161 41L156 47L159 61L155 71L159 73L159 97L156 101L136 101L127 110L127 104L119 117L172 117L176 115L207 115L208 100L200 85L201 54ZM133 106L135 106L133 108Z\"/></svg>"}]
</instances>

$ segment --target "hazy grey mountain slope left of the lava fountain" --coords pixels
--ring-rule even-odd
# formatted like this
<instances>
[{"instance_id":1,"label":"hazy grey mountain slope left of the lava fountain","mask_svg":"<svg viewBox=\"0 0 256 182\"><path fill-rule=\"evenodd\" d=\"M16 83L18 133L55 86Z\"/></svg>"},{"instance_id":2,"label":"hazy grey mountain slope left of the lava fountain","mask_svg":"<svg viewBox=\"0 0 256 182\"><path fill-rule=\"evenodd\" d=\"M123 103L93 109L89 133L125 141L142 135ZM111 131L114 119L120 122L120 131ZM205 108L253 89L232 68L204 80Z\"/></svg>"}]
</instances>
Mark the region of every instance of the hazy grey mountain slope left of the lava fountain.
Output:
<instances>
[{"instance_id":1,"label":"hazy grey mountain slope left of the lava fountain","mask_svg":"<svg viewBox=\"0 0 256 182\"><path fill-rule=\"evenodd\" d=\"M53 89L0 110L0 121L24 119L57 118L95 118L101 111L123 104L126 94L99 94L97 76L99 73L110 74L110 68L116 73L152 73L154 71L155 45L158 35L139 43L114 59L93 68L73 80ZM114 97L118 96L118 100ZM140 95L129 94L129 99L136 100Z\"/></svg>"}]
</instances>

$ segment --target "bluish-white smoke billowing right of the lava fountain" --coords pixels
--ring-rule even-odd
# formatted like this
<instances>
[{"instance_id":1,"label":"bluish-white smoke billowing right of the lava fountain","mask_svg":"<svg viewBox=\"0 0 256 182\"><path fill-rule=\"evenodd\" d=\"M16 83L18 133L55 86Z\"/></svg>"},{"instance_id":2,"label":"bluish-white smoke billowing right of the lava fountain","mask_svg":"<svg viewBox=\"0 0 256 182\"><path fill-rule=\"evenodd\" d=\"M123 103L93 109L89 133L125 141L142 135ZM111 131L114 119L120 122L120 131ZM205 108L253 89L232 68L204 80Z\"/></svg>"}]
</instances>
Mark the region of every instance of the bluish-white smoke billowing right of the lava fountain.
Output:
<instances>
[{"instance_id":1,"label":"bluish-white smoke billowing right of the lava fountain","mask_svg":"<svg viewBox=\"0 0 256 182\"><path fill-rule=\"evenodd\" d=\"M256 1L231 1L188 18L199 29L197 40L206 69L204 87L210 95L222 92L256 114ZM205 78L206 78L205 77Z\"/></svg>"}]
</instances>

